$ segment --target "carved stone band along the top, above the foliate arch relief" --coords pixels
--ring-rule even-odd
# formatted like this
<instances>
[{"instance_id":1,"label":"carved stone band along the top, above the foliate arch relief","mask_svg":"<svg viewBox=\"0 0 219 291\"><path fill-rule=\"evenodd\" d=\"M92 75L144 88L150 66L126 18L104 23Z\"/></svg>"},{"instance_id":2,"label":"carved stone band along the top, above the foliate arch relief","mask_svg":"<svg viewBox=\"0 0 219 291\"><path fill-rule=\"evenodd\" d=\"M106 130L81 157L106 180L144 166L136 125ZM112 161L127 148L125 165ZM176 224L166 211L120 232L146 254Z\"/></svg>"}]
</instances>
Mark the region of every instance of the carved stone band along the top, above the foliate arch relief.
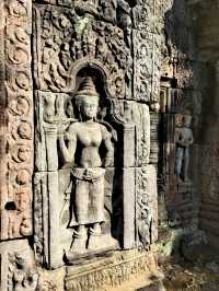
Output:
<instances>
[{"instance_id":1,"label":"carved stone band along the top, above the foliate arch relief","mask_svg":"<svg viewBox=\"0 0 219 291\"><path fill-rule=\"evenodd\" d=\"M42 3L43 1L38 2ZM160 28L161 13L158 12L161 10L161 3L158 0L46 0L44 2L69 7L80 14L89 14L102 21L111 22L123 28L127 34L127 38L131 27L150 32L155 32L155 28Z\"/></svg>"}]
</instances>

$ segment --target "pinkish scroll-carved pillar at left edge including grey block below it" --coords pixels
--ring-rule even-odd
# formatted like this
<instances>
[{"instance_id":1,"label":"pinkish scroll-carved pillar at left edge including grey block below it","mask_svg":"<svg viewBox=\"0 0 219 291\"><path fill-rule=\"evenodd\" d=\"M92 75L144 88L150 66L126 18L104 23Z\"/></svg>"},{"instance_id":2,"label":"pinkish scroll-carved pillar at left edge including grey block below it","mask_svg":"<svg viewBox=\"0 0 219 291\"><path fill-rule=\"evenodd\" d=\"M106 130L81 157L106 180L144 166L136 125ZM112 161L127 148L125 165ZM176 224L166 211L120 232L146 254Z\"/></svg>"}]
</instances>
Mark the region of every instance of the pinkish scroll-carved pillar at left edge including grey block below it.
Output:
<instances>
[{"instance_id":1,"label":"pinkish scroll-carved pillar at left edge including grey block below it","mask_svg":"<svg viewBox=\"0 0 219 291\"><path fill-rule=\"evenodd\" d=\"M0 290L35 290L33 235L32 1L0 4ZM18 240L19 238L19 240ZM5 242L4 242L5 241ZM19 261L21 266L19 269ZM15 280L21 275L20 280ZM30 288L28 288L30 287Z\"/></svg>"}]
</instances>

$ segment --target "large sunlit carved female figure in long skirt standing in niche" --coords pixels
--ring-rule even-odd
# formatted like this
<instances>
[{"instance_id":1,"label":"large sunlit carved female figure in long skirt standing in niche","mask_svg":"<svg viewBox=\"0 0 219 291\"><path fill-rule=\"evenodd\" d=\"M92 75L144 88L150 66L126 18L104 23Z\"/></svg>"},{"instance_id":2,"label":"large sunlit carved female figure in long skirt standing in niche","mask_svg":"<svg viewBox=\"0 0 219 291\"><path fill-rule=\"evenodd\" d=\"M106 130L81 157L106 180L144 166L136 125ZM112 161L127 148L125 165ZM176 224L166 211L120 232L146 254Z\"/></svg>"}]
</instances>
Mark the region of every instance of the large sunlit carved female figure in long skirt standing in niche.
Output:
<instances>
[{"instance_id":1,"label":"large sunlit carved female figure in long skirt standing in niche","mask_svg":"<svg viewBox=\"0 0 219 291\"><path fill-rule=\"evenodd\" d=\"M69 226L77 228L70 253L84 253L89 226L89 248L100 244L101 222L104 221L104 174L113 158L112 135L96 121L99 94L93 81L87 77L76 102L79 120L72 123L66 135L59 138L60 150L66 163L72 164L73 181L71 219ZM103 147L104 156L100 154Z\"/></svg>"}]
</instances>

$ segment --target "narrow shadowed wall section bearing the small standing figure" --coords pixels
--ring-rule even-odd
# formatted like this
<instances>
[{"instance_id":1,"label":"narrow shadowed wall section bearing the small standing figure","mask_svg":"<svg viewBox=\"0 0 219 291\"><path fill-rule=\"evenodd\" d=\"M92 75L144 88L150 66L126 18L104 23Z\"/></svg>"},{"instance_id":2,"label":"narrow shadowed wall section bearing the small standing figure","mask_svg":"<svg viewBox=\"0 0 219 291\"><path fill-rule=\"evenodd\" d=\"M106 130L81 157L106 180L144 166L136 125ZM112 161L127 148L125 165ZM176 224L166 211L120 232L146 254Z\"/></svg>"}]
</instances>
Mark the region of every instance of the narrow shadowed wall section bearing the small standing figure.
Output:
<instances>
[{"instance_id":1,"label":"narrow shadowed wall section bearing the small standing figure","mask_svg":"<svg viewBox=\"0 0 219 291\"><path fill-rule=\"evenodd\" d=\"M169 222L173 228L186 228L197 225L198 148L206 79L196 54L192 7L185 0L165 2L169 9L163 11L161 88L166 93L161 95L161 164ZM192 117L191 127L185 125L185 116Z\"/></svg>"}]
</instances>

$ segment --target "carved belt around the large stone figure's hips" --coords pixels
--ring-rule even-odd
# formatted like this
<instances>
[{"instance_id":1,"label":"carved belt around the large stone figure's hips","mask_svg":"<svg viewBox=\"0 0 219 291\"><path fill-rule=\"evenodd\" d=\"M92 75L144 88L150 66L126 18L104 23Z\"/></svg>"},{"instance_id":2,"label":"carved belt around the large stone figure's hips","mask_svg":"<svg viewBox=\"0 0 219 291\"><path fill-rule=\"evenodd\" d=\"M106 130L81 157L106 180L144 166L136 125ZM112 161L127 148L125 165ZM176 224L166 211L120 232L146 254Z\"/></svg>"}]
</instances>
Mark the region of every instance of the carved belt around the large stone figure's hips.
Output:
<instances>
[{"instance_id":1,"label":"carved belt around the large stone figure's hips","mask_svg":"<svg viewBox=\"0 0 219 291\"><path fill-rule=\"evenodd\" d=\"M77 167L77 168L73 168L71 171L71 174L77 179L88 181L88 182L94 183L105 175L105 168L102 168L102 167L89 167L89 168Z\"/></svg>"}]
</instances>

